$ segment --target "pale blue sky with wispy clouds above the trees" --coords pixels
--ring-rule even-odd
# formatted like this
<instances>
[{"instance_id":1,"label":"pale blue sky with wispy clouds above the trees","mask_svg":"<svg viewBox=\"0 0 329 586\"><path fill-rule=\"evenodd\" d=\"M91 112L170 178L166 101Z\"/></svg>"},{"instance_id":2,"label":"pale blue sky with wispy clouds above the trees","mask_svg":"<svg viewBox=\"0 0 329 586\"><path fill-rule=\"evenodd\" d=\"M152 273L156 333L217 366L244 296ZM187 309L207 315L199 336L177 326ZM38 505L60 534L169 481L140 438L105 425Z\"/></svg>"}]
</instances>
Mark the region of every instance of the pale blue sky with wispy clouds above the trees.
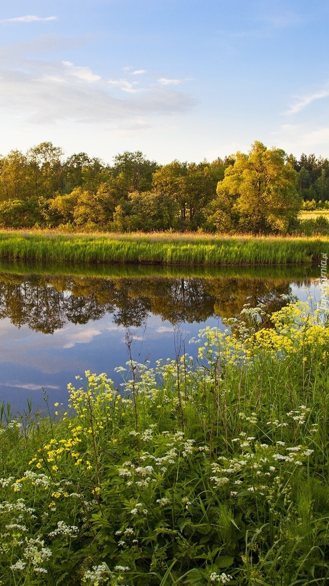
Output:
<instances>
[{"instance_id":1,"label":"pale blue sky with wispy clouds above the trees","mask_svg":"<svg viewBox=\"0 0 329 586\"><path fill-rule=\"evenodd\" d=\"M12 0L0 154L213 161L255 140L329 157L327 0Z\"/></svg>"}]
</instances>

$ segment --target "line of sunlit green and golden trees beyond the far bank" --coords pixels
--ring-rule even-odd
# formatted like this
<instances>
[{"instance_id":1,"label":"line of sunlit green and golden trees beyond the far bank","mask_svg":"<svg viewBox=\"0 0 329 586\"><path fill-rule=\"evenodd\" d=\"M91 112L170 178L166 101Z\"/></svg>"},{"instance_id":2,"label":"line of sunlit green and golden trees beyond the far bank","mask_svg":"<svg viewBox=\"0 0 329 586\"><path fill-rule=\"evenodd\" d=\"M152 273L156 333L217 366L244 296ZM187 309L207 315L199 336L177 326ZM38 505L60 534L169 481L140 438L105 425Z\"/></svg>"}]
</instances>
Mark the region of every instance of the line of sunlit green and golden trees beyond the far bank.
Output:
<instances>
[{"instance_id":1,"label":"line of sunlit green and golden trees beyond the far bank","mask_svg":"<svg viewBox=\"0 0 329 586\"><path fill-rule=\"evenodd\" d=\"M0 226L286 233L306 201L329 200L329 161L255 142L248 154L168 165L140 151L112 165L52 142L0 158Z\"/></svg>"}]
</instances>

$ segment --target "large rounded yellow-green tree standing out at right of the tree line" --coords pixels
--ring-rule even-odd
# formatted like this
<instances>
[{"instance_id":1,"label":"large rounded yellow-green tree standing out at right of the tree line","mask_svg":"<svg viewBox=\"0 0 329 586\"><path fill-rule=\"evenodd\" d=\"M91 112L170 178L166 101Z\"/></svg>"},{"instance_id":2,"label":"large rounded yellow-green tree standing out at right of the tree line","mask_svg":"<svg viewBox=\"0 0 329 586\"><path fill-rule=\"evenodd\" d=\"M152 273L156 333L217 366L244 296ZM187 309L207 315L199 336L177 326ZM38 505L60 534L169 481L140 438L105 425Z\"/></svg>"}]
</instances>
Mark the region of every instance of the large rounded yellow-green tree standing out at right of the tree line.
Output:
<instances>
[{"instance_id":1,"label":"large rounded yellow-green tree standing out at right of the tree line","mask_svg":"<svg viewBox=\"0 0 329 586\"><path fill-rule=\"evenodd\" d=\"M286 233L301 207L297 173L285 151L256 141L218 182L210 223L218 230Z\"/></svg>"}]
</instances>

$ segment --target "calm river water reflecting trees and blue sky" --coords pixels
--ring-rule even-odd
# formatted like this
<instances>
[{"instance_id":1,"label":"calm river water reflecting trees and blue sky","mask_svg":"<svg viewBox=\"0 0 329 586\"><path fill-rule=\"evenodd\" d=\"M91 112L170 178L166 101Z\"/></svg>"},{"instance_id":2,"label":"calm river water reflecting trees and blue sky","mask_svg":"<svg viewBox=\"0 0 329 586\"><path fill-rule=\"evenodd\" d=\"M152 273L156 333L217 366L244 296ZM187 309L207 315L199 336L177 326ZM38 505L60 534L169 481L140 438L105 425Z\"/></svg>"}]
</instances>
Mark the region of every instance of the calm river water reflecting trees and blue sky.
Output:
<instances>
[{"instance_id":1,"label":"calm river water reflecting trees and blue sky","mask_svg":"<svg viewBox=\"0 0 329 586\"><path fill-rule=\"evenodd\" d=\"M318 267L284 270L235 267L173 270L161 267L40 267L0 265L0 401L17 410L67 403L67 383L77 374L106 372L128 360L125 335L133 334L133 359L174 358L177 330L187 342L205 325L222 327L244 304L269 312L286 296L318 295ZM176 332L176 334L175 334Z\"/></svg>"}]
</instances>

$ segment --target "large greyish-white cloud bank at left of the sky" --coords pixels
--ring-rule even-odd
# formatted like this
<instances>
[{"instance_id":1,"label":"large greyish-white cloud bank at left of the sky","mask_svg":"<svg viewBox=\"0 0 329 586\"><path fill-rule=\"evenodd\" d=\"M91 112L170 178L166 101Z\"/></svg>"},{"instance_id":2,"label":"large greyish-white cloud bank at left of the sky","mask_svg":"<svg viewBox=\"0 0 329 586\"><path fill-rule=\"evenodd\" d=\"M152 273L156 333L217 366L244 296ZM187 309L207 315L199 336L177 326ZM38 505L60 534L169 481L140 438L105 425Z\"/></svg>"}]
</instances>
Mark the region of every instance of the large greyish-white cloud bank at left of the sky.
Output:
<instances>
[{"instance_id":1,"label":"large greyish-white cloud bank at left of the sky","mask_svg":"<svg viewBox=\"0 0 329 586\"><path fill-rule=\"evenodd\" d=\"M65 40L65 39L64 39ZM46 58L53 36L30 43L0 47L0 95L4 117L24 124L66 123L102 124L104 129L127 128L143 120L146 127L161 115L182 114L196 104L187 94L148 83L139 87L137 80L106 81L88 66ZM67 46L67 44L66 44ZM37 55L34 59L26 54ZM48 56L47 56L48 57ZM29 132L31 130L29 129Z\"/></svg>"}]
</instances>

